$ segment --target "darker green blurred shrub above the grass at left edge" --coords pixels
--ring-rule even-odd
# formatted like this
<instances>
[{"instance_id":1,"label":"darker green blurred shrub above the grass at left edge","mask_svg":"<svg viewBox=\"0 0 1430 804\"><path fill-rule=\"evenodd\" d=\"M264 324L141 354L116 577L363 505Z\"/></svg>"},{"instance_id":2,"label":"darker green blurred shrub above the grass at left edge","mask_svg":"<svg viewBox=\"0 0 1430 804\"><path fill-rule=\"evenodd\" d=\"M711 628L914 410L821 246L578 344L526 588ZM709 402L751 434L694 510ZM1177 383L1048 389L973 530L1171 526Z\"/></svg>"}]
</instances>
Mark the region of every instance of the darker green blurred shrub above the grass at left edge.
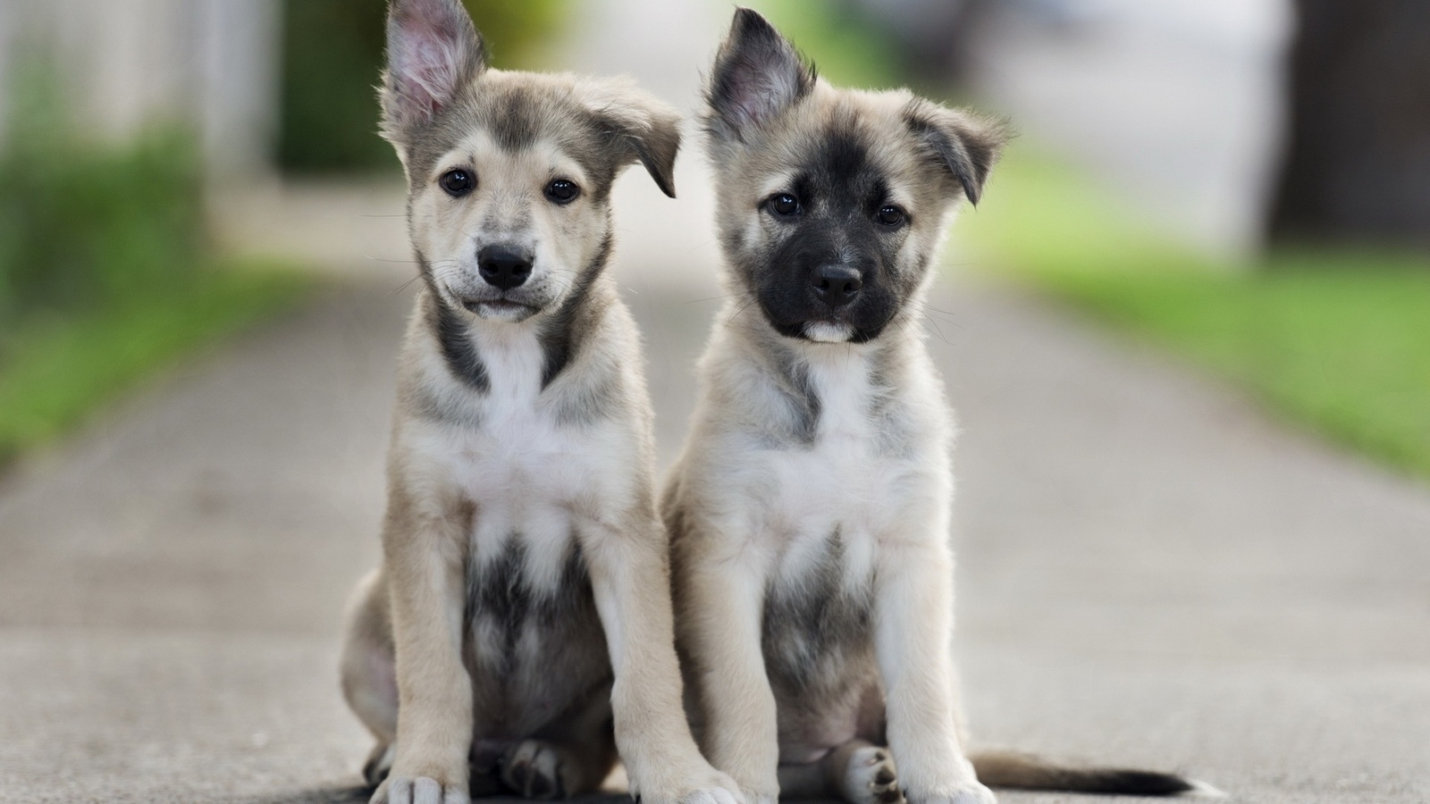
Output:
<instances>
[{"instance_id":1,"label":"darker green blurred shrub above the grass at left edge","mask_svg":"<svg viewBox=\"0 0 1430 804\"><path fill-rule=\"evenodd\" d=\"M0 152L0 329L47 312L122 305L190 282L200 253L192 137L156 130L130 147L67 136L40 67L17 82ZM3 332L0 332L3 333Z\"/></svg>"}]
</instances>

